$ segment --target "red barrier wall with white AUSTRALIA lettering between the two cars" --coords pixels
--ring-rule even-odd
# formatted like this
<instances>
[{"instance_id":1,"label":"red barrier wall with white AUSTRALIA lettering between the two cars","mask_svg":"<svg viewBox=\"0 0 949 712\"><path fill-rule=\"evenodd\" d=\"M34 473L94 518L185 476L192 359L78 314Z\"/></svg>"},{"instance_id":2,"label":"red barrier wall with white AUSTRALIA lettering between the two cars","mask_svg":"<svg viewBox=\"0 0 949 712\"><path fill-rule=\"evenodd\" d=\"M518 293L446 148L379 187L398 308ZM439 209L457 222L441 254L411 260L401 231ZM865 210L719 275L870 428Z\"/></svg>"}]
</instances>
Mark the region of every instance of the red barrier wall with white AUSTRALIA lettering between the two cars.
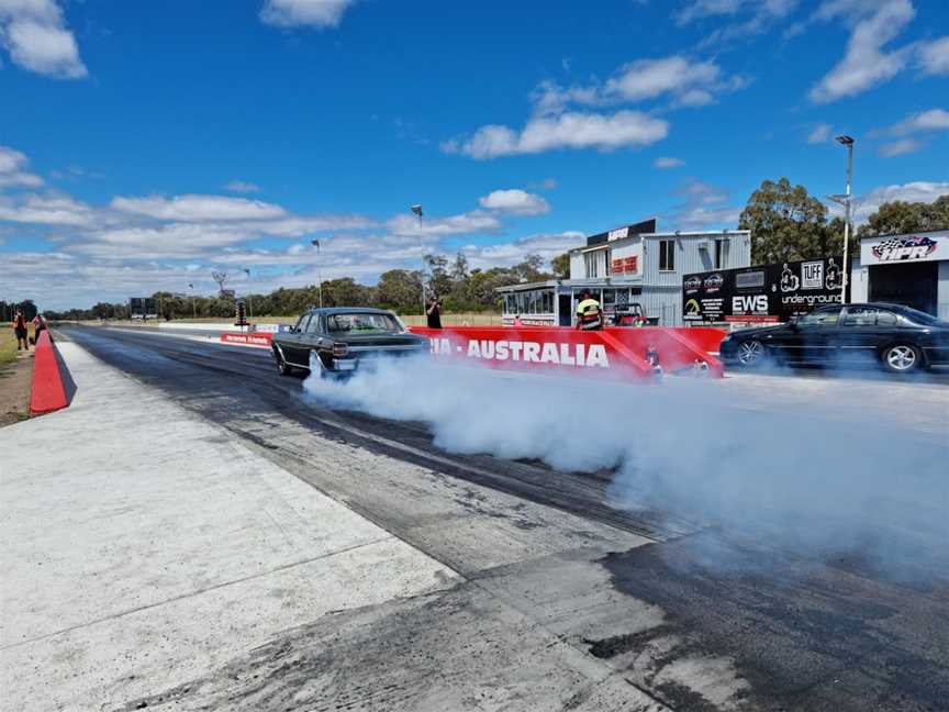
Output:
<instances>
[{"instance_id":1,"label":"red barrier wall with white AUSTRALIA lettering between the two cars","mask_svg":"<svg viewBox=\"0 0 949 712\"><path fill-rule=\"evenodd\" d=\"M582 372L584 376L647 378L652 375L652 368L646 354L654 346L659 364L667 372L691 370L699 359L707 364L712 376L723 375L722 364L705 348L707 335L702 334L696 343L681 333L690 331L684 329L652 326L581 332L544 326L451 326L440 330L413 326L410 331L427 336L436 357L466 358L491 368L552 369Z\"/></svg>"}]
</instances>

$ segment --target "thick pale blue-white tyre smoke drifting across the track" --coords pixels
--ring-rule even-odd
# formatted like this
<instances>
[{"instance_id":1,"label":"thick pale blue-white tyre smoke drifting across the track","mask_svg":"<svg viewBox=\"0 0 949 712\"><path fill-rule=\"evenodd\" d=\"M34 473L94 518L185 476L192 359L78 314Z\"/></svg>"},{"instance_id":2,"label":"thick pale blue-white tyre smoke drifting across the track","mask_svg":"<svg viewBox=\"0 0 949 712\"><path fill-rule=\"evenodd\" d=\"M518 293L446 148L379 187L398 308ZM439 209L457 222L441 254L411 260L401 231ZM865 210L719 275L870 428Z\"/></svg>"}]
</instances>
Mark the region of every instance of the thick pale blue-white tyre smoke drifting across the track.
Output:
<instances>
[{"instance_id":1,"label":"thick pale blue-white tyre smoke drifting across the track","mask_svg":"<svg viewBox=\"0 0 949 712\"><path fill-rule=\"evenodd\" d=\"M823 556L945 558L944 443L873 412L841 418L816 398L736 402L723 381L657 386L382 360L346 381L310 377L321 403L427 423L438 447L538 458L562 470L615 468L617 507L727 524ZM941 575L945 575L941 574Z\"/></svg>"}]
</instances>

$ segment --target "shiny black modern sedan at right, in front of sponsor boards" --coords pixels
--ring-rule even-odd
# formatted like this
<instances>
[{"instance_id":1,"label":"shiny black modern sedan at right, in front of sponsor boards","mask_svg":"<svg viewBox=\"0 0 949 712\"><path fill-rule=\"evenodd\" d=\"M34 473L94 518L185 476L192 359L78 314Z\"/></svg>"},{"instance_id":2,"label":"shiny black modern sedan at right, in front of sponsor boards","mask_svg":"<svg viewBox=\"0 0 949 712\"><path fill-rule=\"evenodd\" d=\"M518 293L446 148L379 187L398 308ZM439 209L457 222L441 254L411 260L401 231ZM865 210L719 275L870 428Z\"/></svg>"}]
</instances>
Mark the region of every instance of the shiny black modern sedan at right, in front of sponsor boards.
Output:
<instances>
[{"instance_id":1,"label":"shiny black modern sedan at right, in front of sponsor boards","mask_svg":"<svg viewBox=\"0 0 949 712\"><path fill-rule=\"evenodd\" d=\"M724 363L746 367L880 363L907 374L949 365L949 322L900 304L838 304L779 326L737 331L718 351Z\"/></svg>"}]
</instances>

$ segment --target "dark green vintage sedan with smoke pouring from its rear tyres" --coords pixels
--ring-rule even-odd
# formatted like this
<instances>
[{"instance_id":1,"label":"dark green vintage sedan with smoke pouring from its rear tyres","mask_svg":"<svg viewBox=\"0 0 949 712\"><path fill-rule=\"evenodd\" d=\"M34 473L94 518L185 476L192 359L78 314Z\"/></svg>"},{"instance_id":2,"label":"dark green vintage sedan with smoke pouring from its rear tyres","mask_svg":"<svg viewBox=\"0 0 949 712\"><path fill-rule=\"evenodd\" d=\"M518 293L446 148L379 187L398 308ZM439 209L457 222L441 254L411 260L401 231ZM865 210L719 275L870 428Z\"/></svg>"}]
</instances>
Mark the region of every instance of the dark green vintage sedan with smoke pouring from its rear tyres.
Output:
<instances>
[{"instance_id":1,"label":"dark green vintage sedan with smoke pouring from its rear tyres","mask_svg":"<svg viewBox=\"0 0 949 712\"><path fill-rule=\"evenodd\" d=\"M339 308L310 310L270 345L281 374L315 367L328 375L353 372L369 358L423 353L428 340L409 333L392 312Z\"/></svg>"}]
</instances>

